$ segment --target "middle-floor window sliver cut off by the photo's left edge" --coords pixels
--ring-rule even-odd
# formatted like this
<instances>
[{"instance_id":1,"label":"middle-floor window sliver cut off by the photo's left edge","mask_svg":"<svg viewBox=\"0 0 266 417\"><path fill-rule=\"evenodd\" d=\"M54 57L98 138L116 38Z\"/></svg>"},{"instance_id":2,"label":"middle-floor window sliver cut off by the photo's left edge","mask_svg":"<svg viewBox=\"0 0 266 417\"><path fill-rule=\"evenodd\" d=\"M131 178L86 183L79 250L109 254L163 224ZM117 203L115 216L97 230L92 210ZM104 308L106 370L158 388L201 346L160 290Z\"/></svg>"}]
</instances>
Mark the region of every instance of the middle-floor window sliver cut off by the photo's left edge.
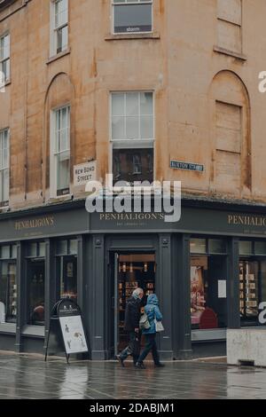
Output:
<instances>
[{"instance_id":1,"label":"middle-floor window sliver cut off by the photo's left edge","mask_svg":"<svg viewBox=\"0 0 266 417\"><path fill-rule=\"evenodd\" d=\"M0 207L9 202L9 130L0 131Z\"/></svg>"}]
</instances>

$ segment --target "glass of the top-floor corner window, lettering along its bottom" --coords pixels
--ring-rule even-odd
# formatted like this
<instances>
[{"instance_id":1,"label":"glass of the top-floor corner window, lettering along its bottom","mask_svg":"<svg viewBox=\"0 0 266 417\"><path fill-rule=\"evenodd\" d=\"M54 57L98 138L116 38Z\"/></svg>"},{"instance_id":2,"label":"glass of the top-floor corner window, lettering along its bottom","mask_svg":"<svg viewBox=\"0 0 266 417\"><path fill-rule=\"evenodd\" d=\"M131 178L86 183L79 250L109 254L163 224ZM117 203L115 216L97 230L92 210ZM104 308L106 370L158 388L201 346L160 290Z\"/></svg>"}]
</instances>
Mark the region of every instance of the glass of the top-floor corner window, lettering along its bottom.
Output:
<instances>
[{"instance_id":1,"label":"glass of the top-floor corner window, lettering along its bottom","mask_svg":"<svg viewBox=\"0 0 266 417\"><path fill-rule=\"evenodd\" d=\"M152 4L114 5L114 32L152 31Z\"/></svg>"}]
</instances>

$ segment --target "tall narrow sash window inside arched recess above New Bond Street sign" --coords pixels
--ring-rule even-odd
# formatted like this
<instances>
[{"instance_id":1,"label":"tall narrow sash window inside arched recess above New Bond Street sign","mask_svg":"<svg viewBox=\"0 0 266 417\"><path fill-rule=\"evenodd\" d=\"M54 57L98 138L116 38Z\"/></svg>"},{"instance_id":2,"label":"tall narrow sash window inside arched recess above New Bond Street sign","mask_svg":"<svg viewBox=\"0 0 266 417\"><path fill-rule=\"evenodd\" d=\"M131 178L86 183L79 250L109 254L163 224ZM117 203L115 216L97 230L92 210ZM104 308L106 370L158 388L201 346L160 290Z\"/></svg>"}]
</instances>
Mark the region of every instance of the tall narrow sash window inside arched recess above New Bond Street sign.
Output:
<instances>
[{"instance_id":1,"label":"tall narrow sash window inside arched recess above New Bond Street sign","mask_svg":"<svg viewBox=\"0 0 266 417\"><path fill-rule=\"evenodd\" d=\"M70 106L52 112L51 120L51 193L69 193L70 183Z\"/></svg>"}]
</instances>

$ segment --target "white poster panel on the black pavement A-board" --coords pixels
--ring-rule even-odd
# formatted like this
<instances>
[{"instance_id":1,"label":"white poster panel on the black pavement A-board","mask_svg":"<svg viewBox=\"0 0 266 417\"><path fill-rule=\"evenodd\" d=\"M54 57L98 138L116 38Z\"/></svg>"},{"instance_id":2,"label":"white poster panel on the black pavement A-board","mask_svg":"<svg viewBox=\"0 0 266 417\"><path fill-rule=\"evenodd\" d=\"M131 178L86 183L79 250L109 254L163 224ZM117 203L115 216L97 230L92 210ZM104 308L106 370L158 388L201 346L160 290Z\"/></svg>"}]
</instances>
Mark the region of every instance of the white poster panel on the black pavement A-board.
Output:
<instances>
[{"instance_id":1,"label":"white poster panel on the black pavement A-board","mask_svg":"<svg viewBox=\"0 0 266 417\"><path fill-rule=\"evenodd\" d=\"M87 352L88 347L81 316L60 317L59 320L67 355Z\"/></svg>"}]
</instances>

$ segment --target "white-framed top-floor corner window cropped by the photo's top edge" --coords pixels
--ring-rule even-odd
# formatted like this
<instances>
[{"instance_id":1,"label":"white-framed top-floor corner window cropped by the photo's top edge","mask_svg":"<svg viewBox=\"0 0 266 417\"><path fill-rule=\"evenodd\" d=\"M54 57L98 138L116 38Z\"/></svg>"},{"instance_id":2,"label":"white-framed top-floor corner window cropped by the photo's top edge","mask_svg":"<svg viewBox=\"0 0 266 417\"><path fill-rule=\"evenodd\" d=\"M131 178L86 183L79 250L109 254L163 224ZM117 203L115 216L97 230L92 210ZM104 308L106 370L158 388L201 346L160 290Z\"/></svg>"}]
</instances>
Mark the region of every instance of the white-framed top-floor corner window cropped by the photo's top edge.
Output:
<instances>
[{"instance_id":1,"label":"white-framed top-floor corner window cropped by the photo's top edge","mask_svg":"<svg viewBox=\"0 0 266 417\"><path fill-rule=\"evenodd\" d=\"M113 33L153 30L153 0L113 0Z\"/></svg>"}]
</instances>

